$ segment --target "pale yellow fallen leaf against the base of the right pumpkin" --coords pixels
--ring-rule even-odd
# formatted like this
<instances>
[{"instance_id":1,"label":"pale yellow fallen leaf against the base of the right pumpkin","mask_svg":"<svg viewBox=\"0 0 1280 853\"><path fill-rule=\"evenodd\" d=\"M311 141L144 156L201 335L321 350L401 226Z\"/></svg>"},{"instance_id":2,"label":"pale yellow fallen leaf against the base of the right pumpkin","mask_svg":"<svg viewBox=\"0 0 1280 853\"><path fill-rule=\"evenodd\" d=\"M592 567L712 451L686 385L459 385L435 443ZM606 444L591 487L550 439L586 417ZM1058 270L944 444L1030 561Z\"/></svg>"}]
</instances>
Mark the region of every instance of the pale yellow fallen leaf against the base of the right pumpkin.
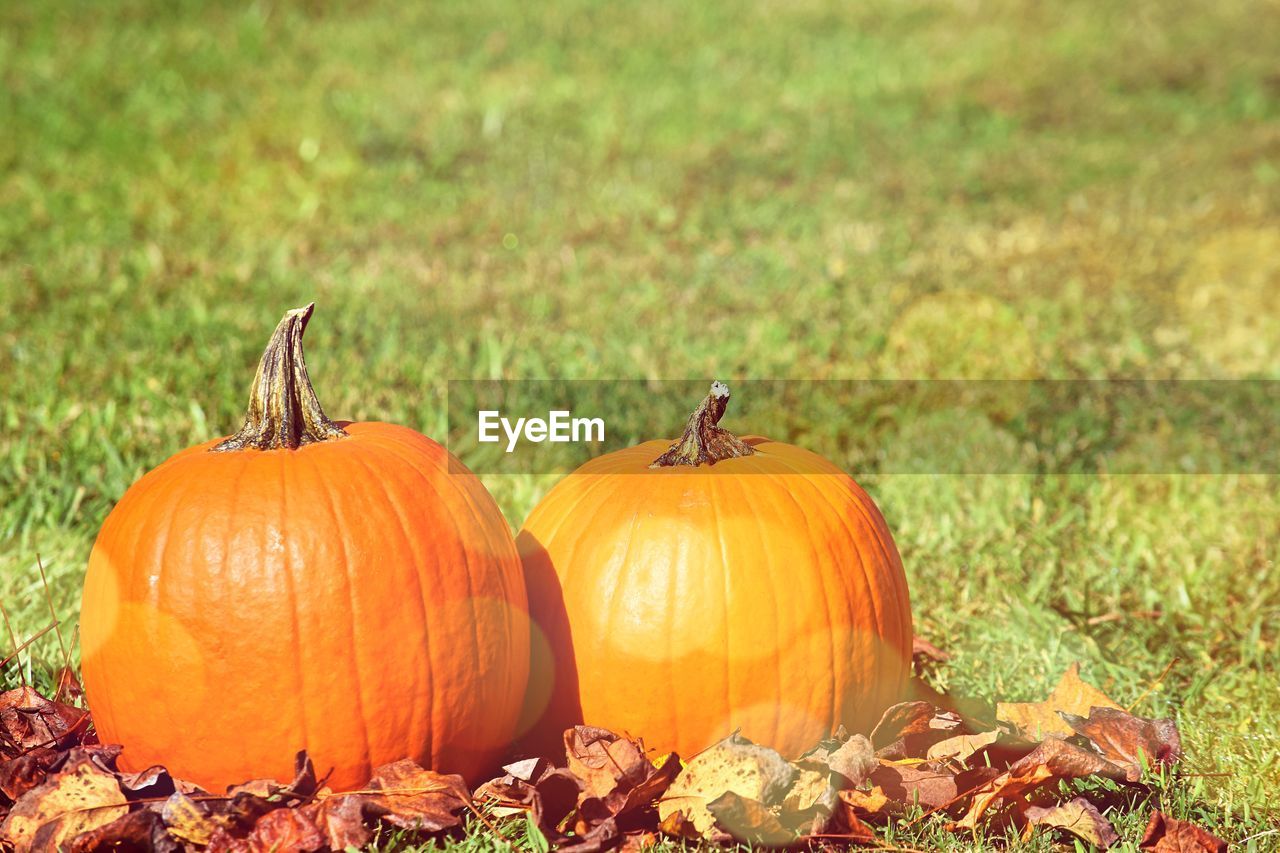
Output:
<instances>
[{"instance_id":1,"label":"pale yellow fallen leaf against the base of the right pumpkin","mask_svg":"<svg viewBox=\"0 0 1280 853\"><path fill-rule=\"evenodd\" d=\"M716 824L707 811L710 800L732 792L773 804L791 788L795 776L796 768L776 751L735 733L685 765L658 803L658 816L666 820L680 809L705 835Z\"/></svg>"}]
</instances>

